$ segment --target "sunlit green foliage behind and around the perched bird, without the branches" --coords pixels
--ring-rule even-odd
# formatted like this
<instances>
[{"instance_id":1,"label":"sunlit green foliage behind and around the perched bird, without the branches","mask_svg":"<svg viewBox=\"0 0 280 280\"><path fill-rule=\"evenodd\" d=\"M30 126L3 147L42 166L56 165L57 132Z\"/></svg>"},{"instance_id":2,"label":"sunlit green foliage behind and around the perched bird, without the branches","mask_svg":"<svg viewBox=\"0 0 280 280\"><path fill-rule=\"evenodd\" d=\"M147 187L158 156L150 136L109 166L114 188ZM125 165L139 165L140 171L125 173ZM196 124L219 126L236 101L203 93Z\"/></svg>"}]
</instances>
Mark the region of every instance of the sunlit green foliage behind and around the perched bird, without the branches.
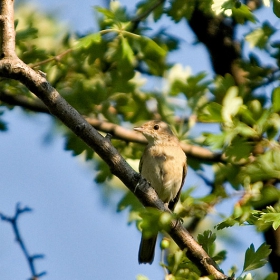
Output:
<instances>
[{"instance_id":1,"label":"sunlit green foliage behind and around the perched bird, without the branches","mask_svg":"<svg viewBox=\"0 0 280 280\"><path fill-rule=\"evenodd\" d=\"M134 17L118 1L112 1L108 8L95 7L99 29L84 36L57 28L53 18L38 15L27 5L18 6L17 53L25 63L46 73L63 97L88 118L128 128L160 118L172 126L182 142L222 155L220 160L210 162L203 157L190 157L189 167L197 171L197 176L213 180L204 180L208 194L202 197L193 195L195 187L187 181L184 190L188 190L182 193L177 207L186 227L193 229L197 221L204 222L217 204L239 194L231 215L216 225L217 234L207 230L197 236L206 252L222 263L227 248L216 252L219 231L250 225L262 232L269 226L276 230L280 224L280 44L274 37L278 32L274 25L269 20L260 21L240 1L182 2L143 0L137 4ZM273 7L262 9L273 10L275 21L280 14L279 5L279 1L273 1ZM244 36L238 38L241 48L250 48L248 58L239 61L239 67L246 72L245 83L238 83L232 73L214 77L204 71L192 74L184 65L169 62L171 52L187 50L180 49L176 34L169 34L162 27L157 30L151 22L159 26L167 21L177 26L190 20L196 9L209 17L226 17L238 26L246 24ZM149 19L146 12L151 14ZM267 56L269 65L264 59ZM33 94L15 81L2 79L0 87L12 96L34 100ZM7 102L0 105L9 109L14 106ZM3 112L1 109L1 118ZM217 128L208 129L212 124ZM6 129L0 119L0 130ZM202 131L199 137L198 129ZM68 131L63 133L65 149L95 162L96 181L122 192L118 210L129 209L130 223L136 222L147 236L167 229L171 216L143 211L133 194L119 183L112 183L109 168L84 143ZM143 148L139 144L122 140L113 140L113 144L129 162L141 156ZM205 164L211 166L211 176L206 173ZM170 272L169 279L200 277L199 269L173 243L163 250L166 260L162 266ZM244 273L262 267L270 251L268 245L255 250L251 244L243 269L239 268L242 275L237 279L252 279L250 273ZM139 275L138 279L146 277ZM275 274L266 279L276 279Z\"/></svg>"}]
</instances>

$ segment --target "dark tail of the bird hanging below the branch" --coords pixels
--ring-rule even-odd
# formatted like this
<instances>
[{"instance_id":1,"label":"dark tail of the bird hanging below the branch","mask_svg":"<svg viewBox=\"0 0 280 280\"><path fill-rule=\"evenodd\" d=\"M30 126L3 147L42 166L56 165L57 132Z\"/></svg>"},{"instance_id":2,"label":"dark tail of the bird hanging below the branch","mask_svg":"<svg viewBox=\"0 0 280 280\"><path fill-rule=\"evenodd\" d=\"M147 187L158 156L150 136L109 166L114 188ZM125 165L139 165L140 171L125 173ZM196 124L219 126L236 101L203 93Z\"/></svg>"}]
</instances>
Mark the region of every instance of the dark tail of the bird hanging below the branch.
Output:
<instances>
[{"instance_id":1,"label":"dark tail of the bird hanging below the branch","mask_svg":"<svg viewBox=\"0 0 280 280\"><path fill-rule=\"evenodd\" d=\"M150 238L144 238L142 234L139 253L138 253L139 264L140 263L151 264L153 262L156 242L157 242L157 235Z\"/></svg>"}]
</instances>

